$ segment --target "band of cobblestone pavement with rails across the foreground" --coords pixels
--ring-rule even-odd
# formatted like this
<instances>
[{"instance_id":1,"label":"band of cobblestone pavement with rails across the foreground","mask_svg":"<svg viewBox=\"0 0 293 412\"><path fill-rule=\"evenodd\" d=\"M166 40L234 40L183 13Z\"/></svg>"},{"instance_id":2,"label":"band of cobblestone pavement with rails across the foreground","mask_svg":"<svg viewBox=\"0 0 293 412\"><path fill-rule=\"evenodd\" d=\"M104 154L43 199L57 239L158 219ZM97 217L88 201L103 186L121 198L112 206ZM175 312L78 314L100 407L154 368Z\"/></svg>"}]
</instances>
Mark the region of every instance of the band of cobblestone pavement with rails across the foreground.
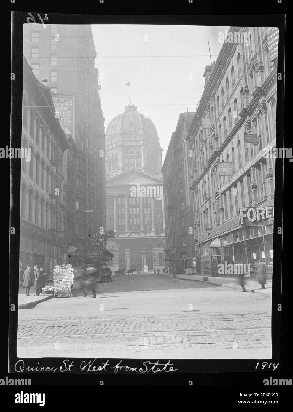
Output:
<instances>
[{"instance_id":1,"label":"band of cobblestone pavement with rails across the foreground","mask_svg":"<svg viewBox=\"0 0 293 412\"><path fill-rule=\"evenodd\" d=\"M253 349L271 347L268 313L174 315L101 315L24 320L18 346L84 342L107 351L120 349Z\"/></svg>"}]
</instances>

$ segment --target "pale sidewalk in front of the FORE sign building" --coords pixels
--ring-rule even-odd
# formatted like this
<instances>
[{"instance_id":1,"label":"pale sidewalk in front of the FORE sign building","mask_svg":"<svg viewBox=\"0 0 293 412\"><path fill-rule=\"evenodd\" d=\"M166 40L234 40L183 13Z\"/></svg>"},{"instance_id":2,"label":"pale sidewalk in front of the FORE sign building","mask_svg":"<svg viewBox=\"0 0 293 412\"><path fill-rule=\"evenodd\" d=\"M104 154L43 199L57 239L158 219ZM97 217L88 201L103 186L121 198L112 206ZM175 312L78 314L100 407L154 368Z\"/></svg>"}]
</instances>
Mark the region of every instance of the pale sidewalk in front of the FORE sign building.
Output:
<instances>
[{"instance_id":1,"label":"pale sidewalk in front of the FORE sign building","mask_svg":"<svg viewBox=\"0 0 293 412\"><path fill-rule=\"evenodd\" d=\"M160 273L162 276L169 276L173 279L183 280L183 281L196 281L203 283L210 283L215 286L228 286L229 288L237 288L241 290L239 286L239 280L237 277L230 276L209 276L207 281L202 280L202 275L183 275L179 274L173 276L171 273ZM265 297L272 298L272 279L267 279L267 284L265 289L261 288L260 283L255 279L244 278L246 292L259 293Z\"/></svg>"}]
</instances>

